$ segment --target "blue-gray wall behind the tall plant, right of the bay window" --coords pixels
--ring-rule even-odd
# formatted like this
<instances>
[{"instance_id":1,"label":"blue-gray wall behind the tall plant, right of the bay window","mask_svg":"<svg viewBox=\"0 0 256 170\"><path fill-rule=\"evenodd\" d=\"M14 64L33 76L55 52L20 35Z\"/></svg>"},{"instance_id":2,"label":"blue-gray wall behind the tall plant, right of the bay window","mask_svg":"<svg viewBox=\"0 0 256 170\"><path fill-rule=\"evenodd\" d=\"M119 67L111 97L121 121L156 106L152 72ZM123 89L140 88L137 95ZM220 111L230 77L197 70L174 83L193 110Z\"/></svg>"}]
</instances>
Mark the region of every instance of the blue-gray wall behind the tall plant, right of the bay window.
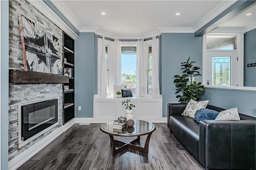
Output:
<instances>
[{"instance_id":1,"label":"blue-gray wall behind the tall plant, right of the bay window","mask_svg":"<svg viewBox=\"0 0 256 170\"><path fill-rule=\"evenodd\" d=\"M182 74L180 63L189 56L202 66L202 37L193 33L161 34L161 91L163 96L163 117L167 116L167 104L176 103L174 75ZM196 79L201 81L201 77Z\"/></svg>"}]
</instances>

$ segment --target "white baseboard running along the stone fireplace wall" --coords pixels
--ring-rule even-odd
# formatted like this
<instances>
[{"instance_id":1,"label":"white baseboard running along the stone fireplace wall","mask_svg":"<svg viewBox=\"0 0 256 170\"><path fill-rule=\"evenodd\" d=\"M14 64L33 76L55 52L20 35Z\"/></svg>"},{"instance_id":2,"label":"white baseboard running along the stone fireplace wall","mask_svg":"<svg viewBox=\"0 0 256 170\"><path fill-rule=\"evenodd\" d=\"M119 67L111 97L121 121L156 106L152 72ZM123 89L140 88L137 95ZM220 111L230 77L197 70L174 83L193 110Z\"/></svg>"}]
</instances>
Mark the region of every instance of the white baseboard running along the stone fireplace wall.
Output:
<instances>
[{"instance_id":1,"label":"white baseboard running along the stone fireplace wall","mask_svg":"<svg viewBox=\"0 0 256 170\"><path fill-rule=\"evenodd\" d=\"M25 163L27 160L29 160L32 156L34 156L37 152L39 152L41 149L45 148L46 145L48 145L51 141L53 141L56 137L61 135L63 132L68 130L70 127L72 127L75 124L75 119L70 120L67 124L59 127L58 129L54 130L52 133L47 135L46 137L39 140L37 143L32 145L30 148L28 148L23 153L17 155L15 158L10 160L8 162L8 169L14 170L17 169L20 165Z\"/></svg>"}]
</instances>

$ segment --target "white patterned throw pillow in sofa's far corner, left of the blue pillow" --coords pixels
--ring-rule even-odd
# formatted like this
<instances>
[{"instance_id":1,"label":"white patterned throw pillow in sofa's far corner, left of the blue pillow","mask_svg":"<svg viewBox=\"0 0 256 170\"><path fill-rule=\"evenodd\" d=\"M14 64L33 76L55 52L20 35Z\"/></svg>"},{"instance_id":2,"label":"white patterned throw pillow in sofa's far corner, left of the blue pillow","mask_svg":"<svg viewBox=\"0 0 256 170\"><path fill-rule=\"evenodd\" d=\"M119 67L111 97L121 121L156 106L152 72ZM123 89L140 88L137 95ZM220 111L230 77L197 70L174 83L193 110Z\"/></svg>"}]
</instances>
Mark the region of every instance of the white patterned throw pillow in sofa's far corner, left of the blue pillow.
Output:
<instances>
[{"instance_id":1,"label":"white patterned throw pillow in sofa's far corner, left of the blue pillow","mask_svg":"<svg viewBox=\"0 0 256 170\"><path fill-rule=\"evenodd\" d=\"M196 114L196 111L199 110L199 109L202 109L202 108L206 108L208 102L209 101L197 102L197 101L194 101L194 100L191 99L187 103L187 106L186 106L185 110L183 111L182 115L194 118L195 114Z\"/></svg>"}]
</instances>

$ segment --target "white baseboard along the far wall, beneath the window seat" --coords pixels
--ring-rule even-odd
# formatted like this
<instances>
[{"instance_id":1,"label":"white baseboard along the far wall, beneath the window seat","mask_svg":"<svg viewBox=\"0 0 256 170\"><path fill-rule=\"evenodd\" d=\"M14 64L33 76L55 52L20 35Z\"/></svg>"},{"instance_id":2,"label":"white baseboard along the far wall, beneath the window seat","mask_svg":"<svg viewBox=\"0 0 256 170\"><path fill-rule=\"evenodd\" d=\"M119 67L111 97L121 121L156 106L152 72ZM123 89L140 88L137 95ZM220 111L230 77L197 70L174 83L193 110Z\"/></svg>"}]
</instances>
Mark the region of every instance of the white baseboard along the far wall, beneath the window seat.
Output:
<instances>
[{"instance_id":1,"label":"white baseboard along the far wall, beneath the window seat","mask_svg":"<svg viewBox=\"0 0 256 170\"><path fill-rule=\"evenodd\" d=\"M93 118L93 117L76 117L75 123L76 124L86 124L86 123L105 123L113 120L114 118ZM150 118L150 117L143 117L140 118L142 120L146 120L152 123L167 123L167 117L160 117L160 118Z\"/></svg>"}]
</instances>

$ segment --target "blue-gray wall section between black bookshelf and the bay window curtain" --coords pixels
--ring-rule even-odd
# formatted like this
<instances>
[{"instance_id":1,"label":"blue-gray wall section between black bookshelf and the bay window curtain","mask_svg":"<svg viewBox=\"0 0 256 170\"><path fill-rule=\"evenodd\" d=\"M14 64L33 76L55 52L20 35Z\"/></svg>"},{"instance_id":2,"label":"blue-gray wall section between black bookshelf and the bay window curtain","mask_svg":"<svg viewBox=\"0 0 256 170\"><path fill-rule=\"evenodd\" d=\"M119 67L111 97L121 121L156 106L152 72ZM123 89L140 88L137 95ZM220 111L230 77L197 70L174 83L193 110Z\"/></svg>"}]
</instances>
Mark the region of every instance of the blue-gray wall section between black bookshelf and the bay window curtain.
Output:
<instances>
[{"instance_id":1,"label":"blue-gray wall section between black bookshelf and the bay window curtain","mask_svg":"<svg viewBox=\"0 0 256 170\"><path fill-rule=\"evenodd\" d=\"M93 117L95 58L95 34L80 33L75 40L75 117Z\"/></svg>"}]
</instances>

